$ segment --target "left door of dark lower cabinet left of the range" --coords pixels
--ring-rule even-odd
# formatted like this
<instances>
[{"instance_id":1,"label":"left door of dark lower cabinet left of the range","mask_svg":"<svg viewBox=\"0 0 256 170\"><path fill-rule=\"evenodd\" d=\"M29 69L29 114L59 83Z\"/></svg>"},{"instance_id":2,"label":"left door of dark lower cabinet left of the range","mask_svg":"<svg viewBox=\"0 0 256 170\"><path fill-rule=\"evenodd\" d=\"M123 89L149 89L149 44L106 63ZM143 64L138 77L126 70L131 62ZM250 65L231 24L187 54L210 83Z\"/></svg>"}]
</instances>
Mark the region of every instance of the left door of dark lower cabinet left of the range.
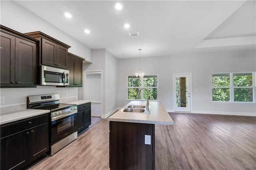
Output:
<instances>
[{"instance_id":1,"label":"left door of dark lower cabinet left of the range","mask_svg":"<svg viewBox=\"0 0 256 170\"><path fill-rule=\"evenodd\" d=\"M29 132L22 131L1 139L1 169L22 169L29 163Z\"/></svg>"}]
</instances>

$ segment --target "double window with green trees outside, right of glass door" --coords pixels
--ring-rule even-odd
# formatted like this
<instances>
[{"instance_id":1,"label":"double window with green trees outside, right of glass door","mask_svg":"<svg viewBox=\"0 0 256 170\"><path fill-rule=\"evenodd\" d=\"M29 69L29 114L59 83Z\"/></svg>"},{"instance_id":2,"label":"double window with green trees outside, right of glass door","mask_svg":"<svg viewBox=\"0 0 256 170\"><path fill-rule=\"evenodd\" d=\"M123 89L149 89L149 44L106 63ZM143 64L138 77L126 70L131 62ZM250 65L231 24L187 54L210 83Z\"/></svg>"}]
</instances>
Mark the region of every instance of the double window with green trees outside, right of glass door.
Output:
<instances>
[{"instance_id":1,"label":"double window with green trees outside, right of glass door","mask_svg":"<svg viewBox=\"0 0 256 170\"><path fill-rule=\"evenodd\" d=\"M254 102L253 73L212 73L212 101Z\"/></svg>"}]
</instances>

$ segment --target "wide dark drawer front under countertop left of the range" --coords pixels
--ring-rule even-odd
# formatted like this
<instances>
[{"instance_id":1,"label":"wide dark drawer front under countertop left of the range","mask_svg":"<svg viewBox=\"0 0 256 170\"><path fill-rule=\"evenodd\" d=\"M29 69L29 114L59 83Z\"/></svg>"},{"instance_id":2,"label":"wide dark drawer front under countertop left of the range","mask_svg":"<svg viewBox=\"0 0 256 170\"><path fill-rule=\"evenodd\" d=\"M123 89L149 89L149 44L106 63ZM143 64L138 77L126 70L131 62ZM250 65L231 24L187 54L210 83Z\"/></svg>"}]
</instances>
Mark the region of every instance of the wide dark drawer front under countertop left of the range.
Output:
<instances>
[{"instance_id":1,"label":"wide dark drawer front under countertop left of the range","mask_svg":"<svg viewBox=\"0 0 256 170\"><path fill-rule=\"evenodd\" d=\"M1 125L1 138L9 136L11 134L26 130L28 128L41 125L43 123L49 122L49 113L40 115L37 117L23 119L14 123L8 123L7 125Z\"/></svg>"}]
</instances>

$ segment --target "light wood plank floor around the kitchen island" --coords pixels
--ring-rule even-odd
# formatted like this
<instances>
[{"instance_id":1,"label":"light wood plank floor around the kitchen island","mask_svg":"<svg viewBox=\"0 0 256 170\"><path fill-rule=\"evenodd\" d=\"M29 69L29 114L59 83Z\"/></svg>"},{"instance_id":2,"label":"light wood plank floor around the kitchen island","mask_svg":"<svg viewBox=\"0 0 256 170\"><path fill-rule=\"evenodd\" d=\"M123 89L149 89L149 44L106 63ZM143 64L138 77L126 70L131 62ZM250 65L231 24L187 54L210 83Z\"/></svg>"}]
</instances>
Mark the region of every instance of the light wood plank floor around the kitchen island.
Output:
<instances>
[{"instance_id":1,"label":"light wood plank floor around the kitchen island","mask_svg":"<svg viewBox=\"0 0 256 170\"><path fill-rule=\"evenodd\" d=\"M255 170L256 117L169 113L155 126L156 170ZM31 170L108 170L109 122L92 117L78 139Z\"/></svg>"}]
</instances>

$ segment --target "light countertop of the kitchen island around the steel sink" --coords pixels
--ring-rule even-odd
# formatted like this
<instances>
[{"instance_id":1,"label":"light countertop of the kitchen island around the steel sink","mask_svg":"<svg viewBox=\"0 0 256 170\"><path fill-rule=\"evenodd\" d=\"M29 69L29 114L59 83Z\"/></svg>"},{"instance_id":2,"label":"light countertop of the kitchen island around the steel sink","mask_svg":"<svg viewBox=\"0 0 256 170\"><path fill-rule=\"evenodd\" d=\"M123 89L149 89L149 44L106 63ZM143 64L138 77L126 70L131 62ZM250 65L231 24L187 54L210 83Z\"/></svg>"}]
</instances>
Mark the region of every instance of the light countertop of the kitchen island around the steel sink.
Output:
<instances>
[{"instance_id":1,"label":"light countertop of the kitchen island around the steel sink","mask_svg":"<svg viewBox=\"0 0 256 170\"><path fill-rule=\"evenodd\" d=\"M146 101L131 101L128 105L146 105ZM124 106L122 109L126 108ZM173 125L172 118L159 101L150 101L150 114L121 112L120 109L108 118L108 121Z\"/></svg>"}]
</instances>

